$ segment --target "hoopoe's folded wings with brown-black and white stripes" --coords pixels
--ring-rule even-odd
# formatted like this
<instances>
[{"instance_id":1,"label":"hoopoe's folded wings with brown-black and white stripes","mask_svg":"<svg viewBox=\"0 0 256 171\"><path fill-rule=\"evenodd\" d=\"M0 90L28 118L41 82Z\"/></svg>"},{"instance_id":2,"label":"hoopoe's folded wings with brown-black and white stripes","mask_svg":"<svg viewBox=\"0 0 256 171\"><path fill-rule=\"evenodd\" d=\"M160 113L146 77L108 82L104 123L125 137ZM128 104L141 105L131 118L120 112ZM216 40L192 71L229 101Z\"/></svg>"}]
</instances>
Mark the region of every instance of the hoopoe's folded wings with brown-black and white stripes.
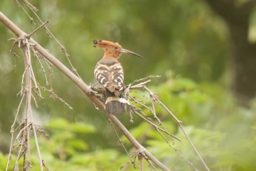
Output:
<instances>
[{"instance_id":1,"label":"hoopoe's folded wings with brown-black and white stripes","mask_svg":"<svg viewBox=\"0 0 256 171\"><path fill-rule=\"evenodd\" d=\"M94 75L100 84L109 91L114 92L116 89L122 90L124 77L123 68L120 63L97 63Z\"/></svg>"}]
</instances>

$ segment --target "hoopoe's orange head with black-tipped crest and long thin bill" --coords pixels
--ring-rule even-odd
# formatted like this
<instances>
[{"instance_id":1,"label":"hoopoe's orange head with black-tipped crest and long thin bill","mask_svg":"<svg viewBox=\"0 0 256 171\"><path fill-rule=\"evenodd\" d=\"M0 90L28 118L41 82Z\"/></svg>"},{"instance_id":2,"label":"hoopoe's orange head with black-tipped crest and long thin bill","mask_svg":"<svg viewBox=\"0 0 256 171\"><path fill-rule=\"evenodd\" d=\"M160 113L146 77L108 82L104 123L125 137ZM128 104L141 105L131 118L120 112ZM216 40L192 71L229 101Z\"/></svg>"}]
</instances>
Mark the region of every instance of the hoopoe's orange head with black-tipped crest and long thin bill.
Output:
<instances>
[{"instance_id":1,"label":"hoopoe's orange head with black-tipped crest and long thin bill","mask_svg":"<svg viewBox=\"0 0 256 171\"><path fill-rule=\"evenodd\" d=\"M122 53L133 54L140 58L143 58L139 54L135 52L123 49L122 46L117 42L110 42L104 40L94 40L93 41L94 47L99 47L105 51L103 58L115 58L118 59Z\"/></svg>"}]
</instances>

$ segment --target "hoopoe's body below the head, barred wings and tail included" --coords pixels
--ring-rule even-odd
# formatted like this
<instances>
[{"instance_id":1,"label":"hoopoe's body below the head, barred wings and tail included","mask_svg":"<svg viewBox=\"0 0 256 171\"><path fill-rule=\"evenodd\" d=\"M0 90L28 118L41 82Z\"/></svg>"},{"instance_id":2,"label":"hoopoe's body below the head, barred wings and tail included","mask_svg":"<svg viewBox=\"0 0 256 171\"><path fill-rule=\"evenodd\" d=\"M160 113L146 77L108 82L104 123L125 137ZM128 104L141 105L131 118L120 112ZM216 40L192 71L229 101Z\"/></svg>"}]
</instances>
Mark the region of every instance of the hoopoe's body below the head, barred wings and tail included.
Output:
<instances>
[{"instance_id":1,"label":"hoopoe's body below the head, barred wings and tail included","mask_svg":"<svg viewBox=\"0 0 256 171\"><path fill-rule=\"evenodd\" d=\"M124 86L123 68L120 62L114 58L103 58L95 67L95 78L105 87L106 102L105 110L113 115L125 111L122 100Z\"/></svg>"}]
</instances>

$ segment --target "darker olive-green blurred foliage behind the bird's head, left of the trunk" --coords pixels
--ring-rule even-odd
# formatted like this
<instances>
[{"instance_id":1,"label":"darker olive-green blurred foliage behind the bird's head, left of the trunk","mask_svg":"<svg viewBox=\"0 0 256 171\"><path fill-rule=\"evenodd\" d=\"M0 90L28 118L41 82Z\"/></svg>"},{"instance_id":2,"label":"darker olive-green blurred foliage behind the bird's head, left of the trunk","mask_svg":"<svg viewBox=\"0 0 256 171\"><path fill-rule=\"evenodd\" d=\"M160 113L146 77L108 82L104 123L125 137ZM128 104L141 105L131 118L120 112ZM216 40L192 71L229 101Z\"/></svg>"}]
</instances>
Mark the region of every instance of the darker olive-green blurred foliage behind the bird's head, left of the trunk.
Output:
<instances>
[{"instance_id":1,"label":"darker olive-green blurred foliage behind the bird's head, left of the trunk","mask_svg":"<svg viewBox=\"0 0 256 171\"><path fill-rule=\"evenodd\" d=\"M54 36L66 47L71 55L72 64L87 83L93 80L93 69L103 55L103 51L92 47L96 38L118 41L126 49L143 55L144 59L123 55L126 84L148 74L164 75L170 68L182 76L196 81L218 80L225 71L229 51L228 34L225 24L216 17L204 1L29 1L38 9L42 20L49 19L48 27ZM23 4L23 3L22 3ZM147 6L147 8L144 8ZM1 1L1 11L25 32L32 32L28 17L15 1ZM27 8L23 6L25 10ZM13 12L16 11L16 12ZM27 10L30 16L32 12ZM34 19L39 25L39 22ZM0 113L14 113L19 100L23 73L23 60L12 57L8 51L11 43L6 40L14 35L0 24ZM70 67L61 48L45 35L44 29L36 34L40 44ZM22 54L17 52L20 57ZM16 68L14 67L16 61ZM220 62L221 61L221 62ZM37 81L45 85L45 78L36 59L32 59ZM137 69L143 66L142 69ZM134 67L136 69L134 69ZM45 67L46 73L48 69ZM16 71L16 72L15 72ZM103 117L96 115L89 101L85 101L81 92L54 69L52 81L54 91L66 100L74 111L72 115L58 100L49 99L39 102L41 113L76 120L99 122L104 129ZM192 71L192 72L191 72ZM49 77L48 77L49 78ZM11 85L11 86L10 86ZM63 86L65 85L65 86ZM15 100L14 100L15 99ZM8 102L8 103L7 103ZM85 112L86 109L86 112ZM85 114L86 113L86 114ZM12 115L0 115L2 129L9 130ZM101 134L101 136L105 136ZM108 137L105 136L105 139Z\"/></svg>"}]
</instances>

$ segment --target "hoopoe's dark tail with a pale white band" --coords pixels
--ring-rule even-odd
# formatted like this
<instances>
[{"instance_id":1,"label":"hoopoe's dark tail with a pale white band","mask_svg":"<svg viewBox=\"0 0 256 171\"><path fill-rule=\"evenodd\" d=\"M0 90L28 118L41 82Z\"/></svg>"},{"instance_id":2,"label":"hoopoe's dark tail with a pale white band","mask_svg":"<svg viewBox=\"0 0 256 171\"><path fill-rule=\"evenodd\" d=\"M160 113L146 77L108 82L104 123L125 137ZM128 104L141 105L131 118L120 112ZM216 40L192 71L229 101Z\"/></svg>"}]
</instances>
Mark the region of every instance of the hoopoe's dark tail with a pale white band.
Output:
<instances>
[{"instance_id":1,"label":"hoopoe's dark tail with a pale white band","mask_svg":"<svg viewBox=\"0 0 256 171\"><path fill-rule=\"evenodd\" d=\"M116 97L116 95L108 89L106 89L105 111L106 113L113 115L120 115L125 112L125 107L123 103L121 103L121 98Z\"/></svg>"}]
</instances>

